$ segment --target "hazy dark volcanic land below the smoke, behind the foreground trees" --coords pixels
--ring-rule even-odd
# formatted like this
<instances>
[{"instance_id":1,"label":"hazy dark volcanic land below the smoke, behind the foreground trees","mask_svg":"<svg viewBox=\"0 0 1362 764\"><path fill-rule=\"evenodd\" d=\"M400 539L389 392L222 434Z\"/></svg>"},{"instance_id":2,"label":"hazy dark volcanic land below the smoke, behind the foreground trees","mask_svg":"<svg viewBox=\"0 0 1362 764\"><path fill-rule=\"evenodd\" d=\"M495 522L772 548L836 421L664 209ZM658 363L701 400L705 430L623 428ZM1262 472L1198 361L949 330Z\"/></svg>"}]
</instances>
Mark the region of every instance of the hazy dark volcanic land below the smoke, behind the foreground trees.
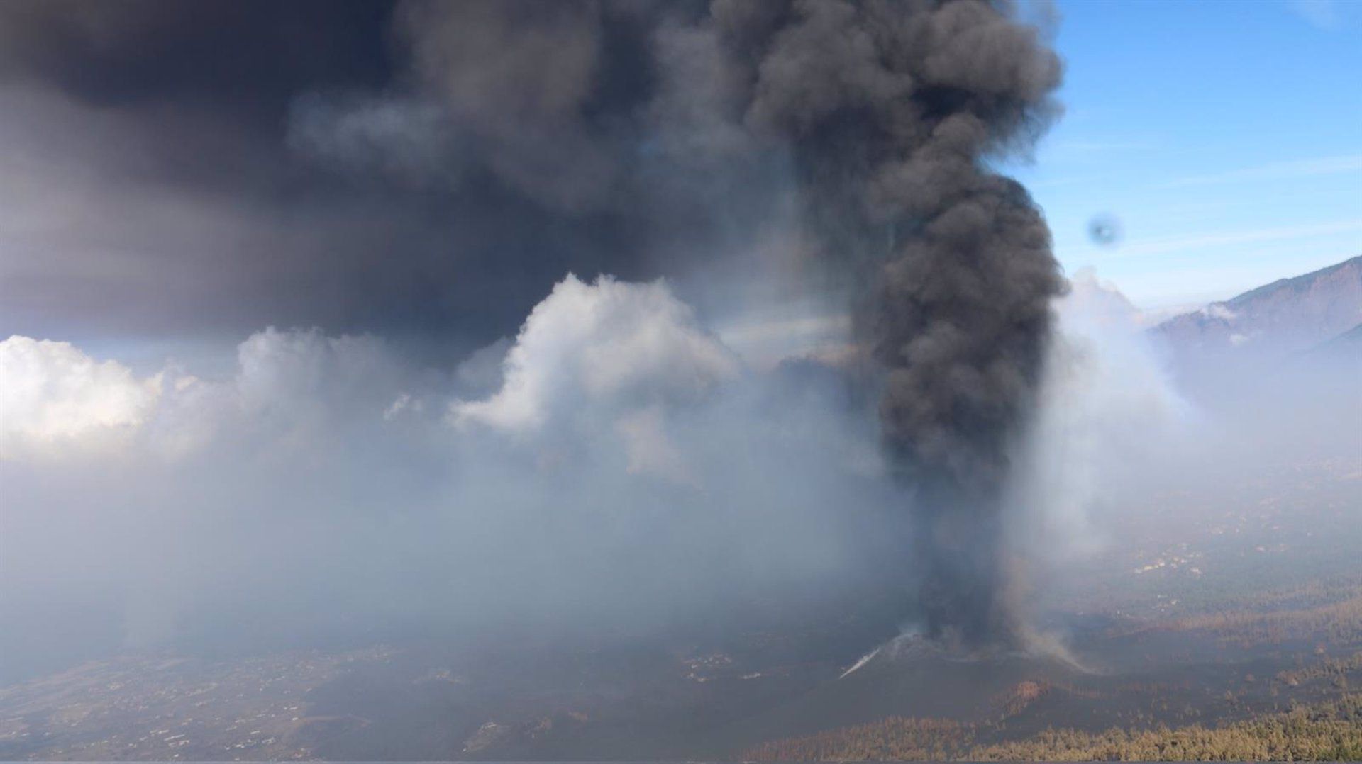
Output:
<instances>
[{"instance_id":1,"label":"hazy dark volcanic land below the smoke, behind the foreground trees","mask_svg":"<svg viewBox=\"0 0 1362 764\"><path fill-rule=\"evenodd\" d=\"M1057 587L1045 626L1073 662L911 636L861 662L884 625L854 618L650 648L140 654L0 689L0 759L731 759L892 716L1000 741L1253 718L1362 681L1362 464L1283 471L1218 512L1170 489L1129 543Z\"/></svg>"}]
</instances>

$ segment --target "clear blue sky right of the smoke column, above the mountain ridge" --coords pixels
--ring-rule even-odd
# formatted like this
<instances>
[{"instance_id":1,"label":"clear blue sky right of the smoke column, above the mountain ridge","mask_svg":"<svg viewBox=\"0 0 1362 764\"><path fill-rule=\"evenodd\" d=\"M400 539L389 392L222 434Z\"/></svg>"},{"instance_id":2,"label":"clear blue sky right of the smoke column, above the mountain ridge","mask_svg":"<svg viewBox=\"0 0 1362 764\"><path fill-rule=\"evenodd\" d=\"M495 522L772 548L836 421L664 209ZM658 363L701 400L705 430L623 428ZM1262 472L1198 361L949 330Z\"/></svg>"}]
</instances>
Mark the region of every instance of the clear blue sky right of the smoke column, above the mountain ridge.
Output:
<instances>
[{"instance_id":1,"label":"clear blue sky right of the smoke column, above the mountain ridge","mask_svg":"<svg viewBox=\"0 0 1362 764\"><path fill-rule=\"evenodd\" d=\"M1068 272L1160 309L1362 255L1362 1L1058 3L1064 118L1011 166ZM1110 214L1122 240L1090 241Z\"/></svg>"}]
</instances>

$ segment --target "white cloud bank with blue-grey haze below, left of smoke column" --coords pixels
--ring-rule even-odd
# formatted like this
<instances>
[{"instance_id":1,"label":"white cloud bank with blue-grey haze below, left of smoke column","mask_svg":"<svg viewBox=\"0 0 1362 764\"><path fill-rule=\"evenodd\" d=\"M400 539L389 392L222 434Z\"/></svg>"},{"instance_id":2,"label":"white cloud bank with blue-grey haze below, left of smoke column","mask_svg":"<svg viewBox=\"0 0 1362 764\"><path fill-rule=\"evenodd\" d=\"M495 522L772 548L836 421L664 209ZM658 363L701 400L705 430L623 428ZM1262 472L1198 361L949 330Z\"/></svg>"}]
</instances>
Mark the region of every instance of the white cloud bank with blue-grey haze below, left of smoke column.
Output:
<instances>
[{"instance_id":1,"label":"white cloud bank with blue-grey haze below, left of smoke column","mask_svg":"<svg viewBox=\"0 0 1362 764\"><path fill-rule=\"evenodd\" d=\"M54 358L18 375L30 343ZM741 365L663 283L568 278L513 343L448 369L316 330L260 331L234 369L169 365L155 388L63 343L0 358L7 447L41 421L30 377L146 388L86 417L124 433L118 459L0 463L0 618L35 631L94 598L128 644L255 639L259 618L652 629L900 558L858 542L893 493L865 468L869 414L820 375Z\"/></svg>"}]
</instances>

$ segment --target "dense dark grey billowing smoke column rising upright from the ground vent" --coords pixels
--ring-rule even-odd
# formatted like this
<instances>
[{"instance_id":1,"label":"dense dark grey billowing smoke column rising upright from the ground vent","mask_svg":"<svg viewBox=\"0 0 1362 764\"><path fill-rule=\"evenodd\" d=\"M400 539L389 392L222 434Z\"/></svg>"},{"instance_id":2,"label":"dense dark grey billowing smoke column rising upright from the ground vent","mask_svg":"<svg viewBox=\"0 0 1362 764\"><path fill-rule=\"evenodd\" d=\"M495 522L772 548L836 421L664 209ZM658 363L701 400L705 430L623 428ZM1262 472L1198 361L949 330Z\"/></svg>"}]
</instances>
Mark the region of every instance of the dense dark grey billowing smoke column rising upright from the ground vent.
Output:
<instances>
[{"instance_id":1,"label":"dense dark grey billowing smoke column rising upright from the ground vent","mask_svg":"<svg viewBox=\"0 0 1362 764\"><path fill-rule=\"evenodd\" d=\"M797 3L771 39L748 121L791 140L812 232L854 281L884 444L915 492L929 635L1013 644L1008 451L1064 282L1030 196L983 161L1056 113L1060 61L971 0Z\"/></svg>"}]
</instances>

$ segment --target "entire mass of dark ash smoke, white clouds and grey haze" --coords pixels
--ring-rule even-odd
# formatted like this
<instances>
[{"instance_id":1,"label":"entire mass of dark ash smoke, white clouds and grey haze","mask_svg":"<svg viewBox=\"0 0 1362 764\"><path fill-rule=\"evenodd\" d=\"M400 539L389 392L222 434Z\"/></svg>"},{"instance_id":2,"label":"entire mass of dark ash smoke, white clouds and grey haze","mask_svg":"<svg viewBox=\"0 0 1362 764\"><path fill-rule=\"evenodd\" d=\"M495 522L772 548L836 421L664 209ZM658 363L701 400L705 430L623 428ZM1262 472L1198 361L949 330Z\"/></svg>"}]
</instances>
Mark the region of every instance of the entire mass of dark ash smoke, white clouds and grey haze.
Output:
<instances>
[{"instance_id":1,"label":"entire mass of dark ash smoke, white clouds and grey haze","mask_svg":"<svg viewBox=\"0 0 1362 764\"><path fill-rule=\"evenodd\" d=\"M1226 443L992 169L1061 75L975 0L0 5L5 670L1027 647L1023 572Z\"/></svg>"}]
</instances>

